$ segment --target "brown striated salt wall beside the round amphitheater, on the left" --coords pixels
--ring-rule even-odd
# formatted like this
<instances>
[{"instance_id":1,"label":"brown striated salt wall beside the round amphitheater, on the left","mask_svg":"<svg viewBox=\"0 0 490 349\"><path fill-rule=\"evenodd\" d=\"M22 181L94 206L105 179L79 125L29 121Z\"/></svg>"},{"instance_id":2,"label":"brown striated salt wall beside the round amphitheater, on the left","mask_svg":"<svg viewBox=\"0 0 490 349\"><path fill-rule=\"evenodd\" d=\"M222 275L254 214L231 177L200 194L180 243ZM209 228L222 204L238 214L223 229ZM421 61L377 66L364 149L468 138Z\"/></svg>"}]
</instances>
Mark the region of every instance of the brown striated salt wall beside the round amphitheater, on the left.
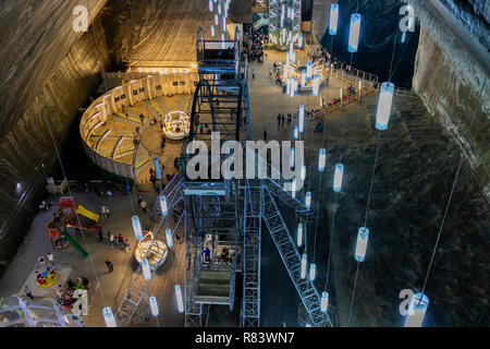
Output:
<instances>
[{"instance_id":1,"label":"brown striated salt wall beside the round amphitheater, on the left","mask_svg":"<svg viewBox=\"0 0 490 349\"><path fill-rule=\"evenodd\" d=\"M88 23L105 0L91 0ZM45 173L58 146L100 81L108 61L100 21L94 34L73 31L77 1L4 1L0 5L0 262L16 251L45 197ZM78 142L78 140L70 140ZM41 168L45 164L46 169ZM17 183L20 185L17 186ZM1 267L0 267L1 272Z\"/></svg>"}]
</instances>

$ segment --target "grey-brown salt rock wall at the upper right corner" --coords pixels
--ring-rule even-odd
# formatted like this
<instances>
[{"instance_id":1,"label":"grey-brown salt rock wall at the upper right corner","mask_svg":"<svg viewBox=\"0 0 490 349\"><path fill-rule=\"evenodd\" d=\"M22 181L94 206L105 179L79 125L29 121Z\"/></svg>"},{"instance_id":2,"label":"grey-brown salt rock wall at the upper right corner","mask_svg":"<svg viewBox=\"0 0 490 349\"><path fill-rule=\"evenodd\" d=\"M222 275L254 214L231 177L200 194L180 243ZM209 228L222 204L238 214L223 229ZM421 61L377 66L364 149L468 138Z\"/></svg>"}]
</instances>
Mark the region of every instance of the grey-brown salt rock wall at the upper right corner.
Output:
<instances>
[{"instance_id":1,"label":"grey-brown salt rock wall at the upper right corner","mask_svg":"<svg viewBox=\"0 0 490 349\"><path fill-rule=\"evenodd\" d=\"M454 3L442 1L449 2ZM490 2L483 2L486 13L478 12L483 8L462 7L462 1L460 7L451 7L448 13L457 20L455 25L438 17L429 2L413 2L421 25L413 84L429 112L460 145L481 191L490 200L490 62L483 47L483 43L489 43L489 32L480 31L488 27ZM465 32L467 28L471 34ZM461 38L468 43L462 43Z\"/></svg>"}]
</instances>

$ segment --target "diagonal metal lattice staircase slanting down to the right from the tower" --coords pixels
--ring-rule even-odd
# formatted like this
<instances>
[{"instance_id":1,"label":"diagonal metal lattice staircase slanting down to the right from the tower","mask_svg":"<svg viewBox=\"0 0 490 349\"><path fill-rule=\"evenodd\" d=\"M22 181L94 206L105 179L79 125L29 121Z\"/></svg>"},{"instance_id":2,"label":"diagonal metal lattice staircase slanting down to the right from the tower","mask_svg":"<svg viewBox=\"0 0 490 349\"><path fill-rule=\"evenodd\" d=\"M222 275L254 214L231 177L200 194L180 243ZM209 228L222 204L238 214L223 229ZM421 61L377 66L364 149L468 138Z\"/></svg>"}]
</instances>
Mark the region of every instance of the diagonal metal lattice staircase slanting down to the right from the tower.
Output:
<instances>
[{"instance_id":1,"label":"diagonal metal lattice staircase slanting down to the right from the tower","mask_svg":"<svg viewBox=\"0 0 490 349\"><path fill-rule=\"evenodd\" d=\"M282 262L293 281L303 305L308 313L313 327L332 326L330 317L320 309L320 294L311 280L301 278L302 262L294 240L280 214L278 204L267 185L261 194L264 219L272 240L278 248Z\"/></svg>"}]
</instances>

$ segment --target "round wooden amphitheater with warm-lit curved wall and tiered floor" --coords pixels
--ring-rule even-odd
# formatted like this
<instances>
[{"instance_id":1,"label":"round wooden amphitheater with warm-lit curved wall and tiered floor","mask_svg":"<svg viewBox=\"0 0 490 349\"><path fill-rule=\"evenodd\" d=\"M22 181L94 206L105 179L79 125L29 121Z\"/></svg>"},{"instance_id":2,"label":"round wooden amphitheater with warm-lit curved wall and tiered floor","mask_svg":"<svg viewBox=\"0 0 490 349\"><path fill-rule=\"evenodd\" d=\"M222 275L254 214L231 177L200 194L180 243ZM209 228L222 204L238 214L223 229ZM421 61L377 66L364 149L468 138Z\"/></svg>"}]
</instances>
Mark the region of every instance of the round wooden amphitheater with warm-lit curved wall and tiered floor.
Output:
<instances>
[{"instance_id":1,"label":"round wooden amphitheater with warm-lit curved wall and tiered floor","mask_svg":"<svg viewBox=\"0 0 490 349\"><path fill-rule=\"evenodd\" d=\"M139 79L123 81L97 98L84 112L79 133L86 154L97 166L145 184L155 158L163 165L163 177L175 171L174 159L189 133L198 74L166 70L155 75L123 75Z\"/></svg>"}]
</instances>

